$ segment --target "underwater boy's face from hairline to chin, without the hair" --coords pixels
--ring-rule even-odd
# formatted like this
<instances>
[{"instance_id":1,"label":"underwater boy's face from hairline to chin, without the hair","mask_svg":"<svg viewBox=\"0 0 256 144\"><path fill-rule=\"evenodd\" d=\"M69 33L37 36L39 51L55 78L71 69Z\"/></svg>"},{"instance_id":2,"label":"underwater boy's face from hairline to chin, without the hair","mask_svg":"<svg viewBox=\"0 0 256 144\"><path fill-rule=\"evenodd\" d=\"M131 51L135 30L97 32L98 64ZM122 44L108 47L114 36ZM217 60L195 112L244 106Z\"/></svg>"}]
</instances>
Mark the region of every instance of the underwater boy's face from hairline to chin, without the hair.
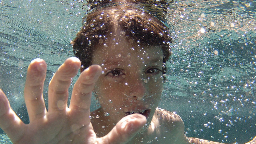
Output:
<instances>
[{"instance_id":1,"label":"underwater boy's face from hairline to chin, without the hair","mask_svg":"<svg viewBox=\"0 0 256 144\"><path fill-rule=\"evenodd\" d=\"M163 51L138 44L116 38L98 47L92 57L92 64L103 69L94 91L114 123L132 113L143 114L150 123L162 94Z\"/></svg>"}]
</instances>

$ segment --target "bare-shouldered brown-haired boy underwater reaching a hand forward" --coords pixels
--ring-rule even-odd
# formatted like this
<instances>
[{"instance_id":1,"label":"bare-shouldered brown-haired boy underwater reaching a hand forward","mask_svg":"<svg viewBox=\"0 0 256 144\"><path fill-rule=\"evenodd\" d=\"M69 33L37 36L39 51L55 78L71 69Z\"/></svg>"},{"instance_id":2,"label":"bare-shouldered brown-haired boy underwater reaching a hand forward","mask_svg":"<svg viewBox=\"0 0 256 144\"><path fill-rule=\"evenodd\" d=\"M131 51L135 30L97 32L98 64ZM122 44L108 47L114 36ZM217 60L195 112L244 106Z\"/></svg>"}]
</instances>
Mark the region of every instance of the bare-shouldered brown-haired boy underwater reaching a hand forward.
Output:
<instances>
[{"instance_id":1,"label":"bare-shouldered brown-haired boy underwater reaching a hand forward","mask_svg":"<svg viewBox=\"0 0 256 144\"><path fill-rule=\"evenodd\" d=\"M0 91L0 127L13 143L215 143L187 138L181 118L157 108L163 62L171 54L168 33L162 22L131 3L90 13L72 42L82 66L70 106L68 87L80 61L67 59L53 76L47 111L46 63L35 59L24 89L30 123L21 122ZM90 113L92 91L102 107Z\"/></svg>"}]
</instances>

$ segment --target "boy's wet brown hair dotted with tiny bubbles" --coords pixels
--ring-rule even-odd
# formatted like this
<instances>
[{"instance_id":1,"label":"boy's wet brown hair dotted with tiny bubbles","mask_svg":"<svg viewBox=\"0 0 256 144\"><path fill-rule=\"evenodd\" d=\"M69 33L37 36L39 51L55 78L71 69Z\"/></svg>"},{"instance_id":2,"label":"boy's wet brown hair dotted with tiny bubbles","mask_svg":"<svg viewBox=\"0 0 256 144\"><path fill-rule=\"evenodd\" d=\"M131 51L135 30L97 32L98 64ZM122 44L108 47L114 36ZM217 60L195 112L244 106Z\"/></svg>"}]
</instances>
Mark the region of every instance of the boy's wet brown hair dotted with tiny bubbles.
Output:
<instances>
[{"instance_id":1,"label":"boy's wet brown hair dotted with tiny bubbles","mask_svg":"<svg viewBox=\"0 0 256 144\"><path fill-rule=\"evenodd\" d=\"M156 17L137 9L131 3L115 3L103 6L90 12L77 37L71 42L73 52L85 69L92 63L92 55L96 48L109 41L118 29L127 39L139 41L140 46L161 46L163 63L171 55L169 28ZM163 67L163 74L166 67Z\"/></svg>"}]
</instances>

